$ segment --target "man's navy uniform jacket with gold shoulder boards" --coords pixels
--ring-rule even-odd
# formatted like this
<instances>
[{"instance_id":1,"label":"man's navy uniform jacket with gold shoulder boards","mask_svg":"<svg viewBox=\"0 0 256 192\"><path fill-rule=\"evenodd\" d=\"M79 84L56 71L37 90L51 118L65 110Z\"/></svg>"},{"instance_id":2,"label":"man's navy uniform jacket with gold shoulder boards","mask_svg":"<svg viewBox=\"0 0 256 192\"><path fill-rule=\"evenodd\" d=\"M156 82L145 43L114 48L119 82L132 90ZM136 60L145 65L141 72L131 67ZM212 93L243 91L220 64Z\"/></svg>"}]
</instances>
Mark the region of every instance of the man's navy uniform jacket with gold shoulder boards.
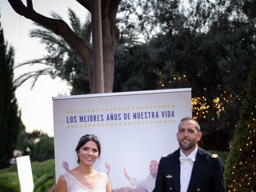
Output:
<instances>
[{"instance_id":1,"label":"man's navy uniform jacket with gold shoulder boards","mask_svg":"<svg viewBox=\"0 0 256 192\"><path fill-rule=\"evenodd\" d=\"M223 173L220 157L198 147L187 192L226 192ZM160 159L153 192L180 192L180 148Z\"/></svg>"}]
</instances>

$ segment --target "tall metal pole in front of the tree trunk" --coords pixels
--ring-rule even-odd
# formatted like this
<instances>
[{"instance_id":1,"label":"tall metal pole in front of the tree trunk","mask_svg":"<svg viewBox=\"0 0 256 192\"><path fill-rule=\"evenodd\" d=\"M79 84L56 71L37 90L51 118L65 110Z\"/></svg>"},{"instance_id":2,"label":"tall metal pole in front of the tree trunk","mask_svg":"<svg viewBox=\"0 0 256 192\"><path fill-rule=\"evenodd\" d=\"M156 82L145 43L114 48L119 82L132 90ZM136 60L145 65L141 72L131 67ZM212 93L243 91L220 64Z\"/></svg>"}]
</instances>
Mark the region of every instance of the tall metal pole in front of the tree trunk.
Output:
<instances>
[{"instance_id":1,"label":"tall metal pole in front of the tree trunk","mask_svg":"<svg viewBox=\"0 0 256 192\"><path fill-rule=\"evenodd\" d=\"M100 0L90 0L92 16L93 93L104 93Z\"/></svg>"}]
</instances>

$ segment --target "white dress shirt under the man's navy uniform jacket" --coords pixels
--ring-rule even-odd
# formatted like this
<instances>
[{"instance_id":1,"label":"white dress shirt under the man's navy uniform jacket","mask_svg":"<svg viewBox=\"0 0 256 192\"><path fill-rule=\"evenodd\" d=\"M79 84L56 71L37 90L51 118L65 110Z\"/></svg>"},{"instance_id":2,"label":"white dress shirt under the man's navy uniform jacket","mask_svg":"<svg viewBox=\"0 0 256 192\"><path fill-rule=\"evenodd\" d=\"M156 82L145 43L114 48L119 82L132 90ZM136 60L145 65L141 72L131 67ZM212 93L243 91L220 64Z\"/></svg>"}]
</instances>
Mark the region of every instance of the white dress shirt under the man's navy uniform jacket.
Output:
<instances>
[{"instance_id":1,"label":"white dress shirt under the man's navy uniform jacket","mask_svg":"<svg viewBox=\"0 0 256 192\"><path fill-rule=\"evenodd\" d=\"M198 147L194 149L187 157L192 158L193 162L186 161L185 163L180 163L180 192L187 192L188 184L190 181L192 168L194 161L196 160L196 152ZM180 158L186 158L182 150L180 150Z\"/></svg>"}]
</instances>

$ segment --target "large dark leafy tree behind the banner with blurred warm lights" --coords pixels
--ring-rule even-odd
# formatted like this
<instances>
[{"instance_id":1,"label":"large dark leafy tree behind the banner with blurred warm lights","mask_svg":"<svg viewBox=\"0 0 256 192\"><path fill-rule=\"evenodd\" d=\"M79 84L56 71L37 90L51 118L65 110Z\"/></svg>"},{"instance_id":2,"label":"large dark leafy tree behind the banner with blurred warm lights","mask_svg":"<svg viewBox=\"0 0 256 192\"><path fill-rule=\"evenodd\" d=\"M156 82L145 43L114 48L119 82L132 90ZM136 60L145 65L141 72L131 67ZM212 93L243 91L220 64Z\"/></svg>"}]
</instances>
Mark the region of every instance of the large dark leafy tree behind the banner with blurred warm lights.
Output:
<instances>
[{"instance_id":1,"label":"large dark leafy tree behind the banner with blurred warm lights","mask_svg":"<svg viewBox=\"0 0 256 192\"><path fill-rule=\"evenodd\" d=\"M191 87L193 116L204 135L200 146L228 150L256 58L254 20L239 0L140 5L156 13L151 20L141 14L140 24L146 20L161 30L147 43L116 49L114 91Z\"/></svg>"}]
</instances>

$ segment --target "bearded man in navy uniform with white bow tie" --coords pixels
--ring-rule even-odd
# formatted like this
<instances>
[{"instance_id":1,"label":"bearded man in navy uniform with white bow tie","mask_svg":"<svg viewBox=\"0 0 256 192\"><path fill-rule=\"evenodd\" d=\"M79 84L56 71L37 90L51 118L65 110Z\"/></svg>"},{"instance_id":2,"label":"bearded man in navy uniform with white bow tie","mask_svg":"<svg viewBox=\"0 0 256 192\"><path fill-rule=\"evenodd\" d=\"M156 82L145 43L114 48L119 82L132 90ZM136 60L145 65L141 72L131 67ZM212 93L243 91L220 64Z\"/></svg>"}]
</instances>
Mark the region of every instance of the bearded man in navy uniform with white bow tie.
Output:
<instances>
[{"instance_id":1,"label":"bearded man in navy uniform with white bow tie","mask_svg":"<svg viewBox=\"0 0 256 192\"><path fill-rule=\"evenodd\" d=\"M197 146L201 136L196 120L186 117L180 121L180 148L162 156L153 192L226 192L222 161Z\"/></svg>"}]
</instances>

